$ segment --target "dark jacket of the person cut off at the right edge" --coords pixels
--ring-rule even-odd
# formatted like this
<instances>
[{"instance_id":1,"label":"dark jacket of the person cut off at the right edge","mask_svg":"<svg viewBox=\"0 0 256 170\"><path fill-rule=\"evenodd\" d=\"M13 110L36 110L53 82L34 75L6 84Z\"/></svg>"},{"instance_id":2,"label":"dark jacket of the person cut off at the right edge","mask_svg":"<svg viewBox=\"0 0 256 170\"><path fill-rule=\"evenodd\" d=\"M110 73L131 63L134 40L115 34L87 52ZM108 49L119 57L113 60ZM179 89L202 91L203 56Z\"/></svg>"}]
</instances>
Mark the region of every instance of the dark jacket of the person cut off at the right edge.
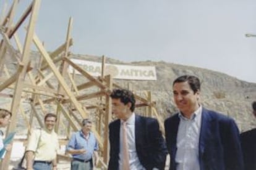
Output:
<instances>
[{"instance_id":1,"label":"dark jacket of the person cut off at the right edge","mask_svg":"<svg viewBox=\"0 0 256 170\"><path fill-rule=\"evenodd\" d=\"M241 134L242 153L244 156L244 169L256 169L256 129Z\"/></svg>"}]
</instances>

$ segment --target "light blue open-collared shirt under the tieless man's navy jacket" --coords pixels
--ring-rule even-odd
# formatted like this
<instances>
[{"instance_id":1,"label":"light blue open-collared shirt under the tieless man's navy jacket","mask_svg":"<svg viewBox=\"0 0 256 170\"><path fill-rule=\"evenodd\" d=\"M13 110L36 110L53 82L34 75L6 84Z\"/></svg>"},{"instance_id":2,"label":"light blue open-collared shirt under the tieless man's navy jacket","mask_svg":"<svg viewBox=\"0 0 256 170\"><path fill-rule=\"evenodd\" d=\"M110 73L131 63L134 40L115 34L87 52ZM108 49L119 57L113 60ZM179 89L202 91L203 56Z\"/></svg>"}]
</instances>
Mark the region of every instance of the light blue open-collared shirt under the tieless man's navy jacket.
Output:
<instances>
[{"instance_id":1,"label":"light blue open-collared shirt under the tieless man's navy jacket","mask_svg":"<svg viewBox=\"0 0 256 170\"><path fill-rule=\"evenodd\" d=\"M175 157L177 170L200 169L198 144L202 121L202 106L192 114L190 119L184 117L181 113L179 113L179 118Z\"/></svg>"}]
</instances>

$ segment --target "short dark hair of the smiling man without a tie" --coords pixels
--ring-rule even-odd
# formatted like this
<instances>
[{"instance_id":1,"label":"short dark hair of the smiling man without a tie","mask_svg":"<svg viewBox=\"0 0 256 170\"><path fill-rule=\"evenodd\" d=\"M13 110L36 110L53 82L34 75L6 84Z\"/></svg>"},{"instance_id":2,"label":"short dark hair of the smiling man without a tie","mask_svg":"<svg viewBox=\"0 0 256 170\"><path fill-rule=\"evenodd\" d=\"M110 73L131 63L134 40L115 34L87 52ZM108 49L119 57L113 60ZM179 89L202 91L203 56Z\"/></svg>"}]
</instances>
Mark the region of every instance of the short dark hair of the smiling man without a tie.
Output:
<instances>
[{"instance_id":1,"label":"short dark hair of the smiling man without a tie","mask_svg":"<svg viewBox=\"0 0 256 170\"><path fill-rule=\"evenodd\" d=\"M200 88L201 88L200 80L196 76L190 76L190 75L179 76L173 81L173 86L175 83L182 83L186 81L187 83L189 83L189 86L192 89L192 91L194 91L194 94L200 91Z\"/></svg>"}]
</instances>

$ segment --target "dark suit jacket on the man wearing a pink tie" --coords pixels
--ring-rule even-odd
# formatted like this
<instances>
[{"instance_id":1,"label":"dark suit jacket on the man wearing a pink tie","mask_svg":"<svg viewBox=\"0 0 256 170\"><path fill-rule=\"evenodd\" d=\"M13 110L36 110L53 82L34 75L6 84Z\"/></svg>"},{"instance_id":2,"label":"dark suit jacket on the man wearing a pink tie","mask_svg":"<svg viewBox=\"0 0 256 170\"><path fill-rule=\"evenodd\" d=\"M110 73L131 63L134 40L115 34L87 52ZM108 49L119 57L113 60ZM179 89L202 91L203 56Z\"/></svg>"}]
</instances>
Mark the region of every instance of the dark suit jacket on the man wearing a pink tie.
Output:
<instances>
[{"instance_id":1,"label":"dark suit jacket on the man wearing a pink tie","mask_svg":"<svg viewBox=\"0 0 256 170\"><path fill-rule=\"evenodd\" d=\"M109 124L109 170L119 168L120 124L120 119ZM135 146L143 167L164 169L168 151L156 119L135 115Z\"/></svg>"}]
</instances>

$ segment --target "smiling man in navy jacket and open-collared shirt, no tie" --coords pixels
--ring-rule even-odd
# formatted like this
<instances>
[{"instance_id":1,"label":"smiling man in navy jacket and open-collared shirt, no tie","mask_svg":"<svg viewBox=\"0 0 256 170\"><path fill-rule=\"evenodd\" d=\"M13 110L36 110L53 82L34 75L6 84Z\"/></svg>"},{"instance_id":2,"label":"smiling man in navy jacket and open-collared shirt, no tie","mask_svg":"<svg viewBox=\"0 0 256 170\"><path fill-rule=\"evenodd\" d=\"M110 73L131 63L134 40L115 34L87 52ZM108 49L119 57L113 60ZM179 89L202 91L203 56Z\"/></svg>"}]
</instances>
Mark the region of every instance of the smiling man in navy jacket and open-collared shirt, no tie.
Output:
<instances>
[{"instance_id":1,"label":"smiling man in navy jacket and open-collared shirt, no tie","mask_svg":"<svg viewBox=\"0 0 256 170\"><path fill-rule=\"evenodd\" d=\"M164 121L169 169L244 169L236 123L202 107L199 79L189 75L175 79L173 95L179 112Z\"/></svg>"}]
</instances>

